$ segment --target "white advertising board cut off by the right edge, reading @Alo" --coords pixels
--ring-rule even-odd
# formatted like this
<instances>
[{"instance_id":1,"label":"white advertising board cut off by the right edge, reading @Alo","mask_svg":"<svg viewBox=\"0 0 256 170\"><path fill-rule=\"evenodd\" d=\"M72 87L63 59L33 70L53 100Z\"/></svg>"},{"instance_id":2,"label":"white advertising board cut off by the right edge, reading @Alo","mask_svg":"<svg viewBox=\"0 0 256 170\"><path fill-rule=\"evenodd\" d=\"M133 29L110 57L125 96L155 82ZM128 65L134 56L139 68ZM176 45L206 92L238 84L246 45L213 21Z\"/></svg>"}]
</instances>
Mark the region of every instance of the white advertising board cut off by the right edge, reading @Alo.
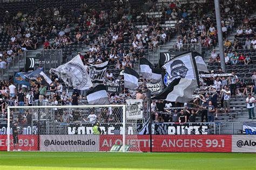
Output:
<instances>
[{"instance_id":1,"label":"white advertising board cut off by the right edge, reading @Alo","mask_svg":"<svg viewBox=\"0 0 256 170\"><path fill-rule=\"evenodd\" d=\"M256 152L256 136L232 135L232 152Z\"/></svg>"}]
</instances>

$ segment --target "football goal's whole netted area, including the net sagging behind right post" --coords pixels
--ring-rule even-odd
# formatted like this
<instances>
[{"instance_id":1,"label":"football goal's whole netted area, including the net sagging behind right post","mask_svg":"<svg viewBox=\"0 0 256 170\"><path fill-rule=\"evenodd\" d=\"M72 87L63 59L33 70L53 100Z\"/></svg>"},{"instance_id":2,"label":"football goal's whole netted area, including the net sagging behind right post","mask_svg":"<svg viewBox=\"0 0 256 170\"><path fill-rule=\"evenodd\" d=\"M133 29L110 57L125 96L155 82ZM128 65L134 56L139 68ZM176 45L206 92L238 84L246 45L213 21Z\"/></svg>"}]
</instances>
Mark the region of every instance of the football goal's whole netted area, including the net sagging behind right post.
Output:
<instances>
[{"instance_id":1,"label":"football goal's whole netted area, including the net sagging behind right post","mask_svg":"<svg viewBox=\"0 0 256 170\"><path fill-rule=\"evenodd\" d=\"M8 108L8 151L140 152L127 105ZM134 110L133 110L134 111Z\"/></svg>"}]
</instances>

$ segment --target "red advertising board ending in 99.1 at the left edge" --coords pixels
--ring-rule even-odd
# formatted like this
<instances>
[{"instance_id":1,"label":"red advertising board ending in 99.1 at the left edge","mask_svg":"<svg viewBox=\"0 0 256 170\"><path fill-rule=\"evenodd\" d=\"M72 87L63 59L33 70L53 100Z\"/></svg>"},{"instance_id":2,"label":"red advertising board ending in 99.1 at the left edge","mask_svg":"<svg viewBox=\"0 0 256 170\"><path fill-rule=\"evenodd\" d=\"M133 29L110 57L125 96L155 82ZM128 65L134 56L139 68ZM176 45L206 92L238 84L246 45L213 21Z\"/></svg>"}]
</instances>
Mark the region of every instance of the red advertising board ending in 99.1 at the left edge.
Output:
<instances>
[{"instance_id":1,"label":"red advertising board ending in 99.1 at the left edge","mask_svg":"<svg viewBox=\"0 0 256 170\"><path fill-rule=\"evenodd\" d=\"M14 150L14 140L12 135L10 150ZM38 136L37 135L18 135L18 149L22 151L37 151L38 150ZM7 135L0 135L0 151L7 151Z\"/></svg>"}]
</instances>

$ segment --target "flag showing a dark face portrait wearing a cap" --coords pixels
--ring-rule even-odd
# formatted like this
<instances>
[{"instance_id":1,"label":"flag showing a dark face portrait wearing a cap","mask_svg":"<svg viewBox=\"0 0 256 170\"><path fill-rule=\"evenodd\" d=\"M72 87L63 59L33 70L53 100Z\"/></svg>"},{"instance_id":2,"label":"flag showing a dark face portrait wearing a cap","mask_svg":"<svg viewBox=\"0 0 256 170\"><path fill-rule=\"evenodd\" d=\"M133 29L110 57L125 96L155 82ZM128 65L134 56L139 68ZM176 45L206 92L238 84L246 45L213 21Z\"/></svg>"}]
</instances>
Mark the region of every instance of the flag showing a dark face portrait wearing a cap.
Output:
<instances>
[{"instance_id":1,"label":"flag showing a dark face portrait wearing a cap","mask_svg":"<svg viewBox=\"0 0 256 170\"><path fill-rule=\"evenodd\" d=\"M175 79L198 80L198 72L196 61L192 56L192 52L178 55L165 63L163 68L169 75L167 84Z\"/></svg>"}]
</instances>

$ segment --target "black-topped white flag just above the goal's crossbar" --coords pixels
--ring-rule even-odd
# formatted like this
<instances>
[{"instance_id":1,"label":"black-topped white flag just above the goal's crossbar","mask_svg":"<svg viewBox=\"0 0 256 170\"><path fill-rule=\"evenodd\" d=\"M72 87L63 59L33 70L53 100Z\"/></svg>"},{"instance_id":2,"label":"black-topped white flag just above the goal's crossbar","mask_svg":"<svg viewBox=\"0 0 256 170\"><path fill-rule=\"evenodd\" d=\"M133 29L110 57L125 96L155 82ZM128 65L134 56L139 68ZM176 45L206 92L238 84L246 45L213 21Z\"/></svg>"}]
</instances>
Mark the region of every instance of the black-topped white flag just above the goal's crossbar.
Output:
<instances>
[{"instance_id":1,"label":"black-topped white flag just above the goal's crossbar","mask_svg":"<svg viewBox=\"0 0 256 170\"><path fill-rule=\"evenodd\" d=\"M99 84L98 86L87 91L87 101L90 105L110 104L109 96L107 96L106 86Z\"/></svg>"}]
</instances>

